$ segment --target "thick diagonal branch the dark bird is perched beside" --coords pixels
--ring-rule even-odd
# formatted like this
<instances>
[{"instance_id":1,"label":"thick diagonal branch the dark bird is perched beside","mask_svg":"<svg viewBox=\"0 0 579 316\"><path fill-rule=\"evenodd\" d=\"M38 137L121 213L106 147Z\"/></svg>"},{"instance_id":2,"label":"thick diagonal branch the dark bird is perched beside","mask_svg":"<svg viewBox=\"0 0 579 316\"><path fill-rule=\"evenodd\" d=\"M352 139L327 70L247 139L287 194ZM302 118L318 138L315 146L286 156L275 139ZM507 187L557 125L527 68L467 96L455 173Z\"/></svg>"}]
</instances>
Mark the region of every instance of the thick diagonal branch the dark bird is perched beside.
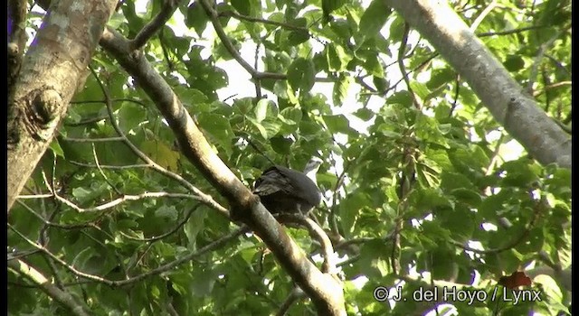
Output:
<instances>
[{"instance_id":1,"label":"thick diagonal branch the dark bird is perched beside","mask_svg":"<svg viewBox=\"0 0 579 316\"><path fill-rule=\"evenodd\" d=\"M221 161L181 101L145 56L138 51L129 51L128 41L109 28L103 33L100 44L138 80L174 131L185 157L229 200L232 216L242 220L261 237L280 265L308 294L318 313L345 315L341 285L331 275L322 274L308 261L280 223L261 205L259 198Z\"/></svg>"}]
</instances>

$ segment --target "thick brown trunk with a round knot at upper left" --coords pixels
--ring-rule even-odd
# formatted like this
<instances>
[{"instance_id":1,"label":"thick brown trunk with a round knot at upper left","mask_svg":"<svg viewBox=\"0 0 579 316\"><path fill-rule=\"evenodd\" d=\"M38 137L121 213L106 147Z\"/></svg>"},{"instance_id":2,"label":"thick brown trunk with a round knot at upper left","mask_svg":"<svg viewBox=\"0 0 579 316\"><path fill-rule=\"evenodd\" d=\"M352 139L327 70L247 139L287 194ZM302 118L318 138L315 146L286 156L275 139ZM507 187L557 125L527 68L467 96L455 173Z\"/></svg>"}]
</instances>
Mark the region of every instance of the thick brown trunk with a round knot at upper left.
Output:
<instances>
[{"instance_id":1,"label":"thick brown trunk with a round knot at upper left","mask_svg":"<svg viewBox=\"0 0 579 316\"><path fill-rule=\"evenodd\" d=\"M117 0L53 1L8 103L9 212L66 114Z\"/></svg>"}]
</instances>

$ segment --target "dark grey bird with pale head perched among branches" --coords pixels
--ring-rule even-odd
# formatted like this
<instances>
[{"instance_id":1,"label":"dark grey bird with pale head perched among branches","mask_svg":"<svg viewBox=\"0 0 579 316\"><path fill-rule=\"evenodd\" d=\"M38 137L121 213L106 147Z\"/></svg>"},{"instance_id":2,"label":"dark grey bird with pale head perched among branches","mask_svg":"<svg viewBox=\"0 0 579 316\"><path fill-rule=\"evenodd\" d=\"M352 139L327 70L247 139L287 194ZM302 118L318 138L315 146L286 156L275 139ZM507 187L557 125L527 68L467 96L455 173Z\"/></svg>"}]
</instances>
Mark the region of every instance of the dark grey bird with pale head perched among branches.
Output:
<instances>
[{"instance_id":1,"label":"dark grey bird with pale head perched among branches","mask_svg":"<svg viewBox=\"0 0 579 316\"><path fill-rule=\"evenodd\" d=\"M321 159L313 157L306 164L304 172L273 165L255 181L253 193L260 197L261 204L271 214L308 215L321 200L316 181L321 163Z\"/></svg>"}]
</instances>

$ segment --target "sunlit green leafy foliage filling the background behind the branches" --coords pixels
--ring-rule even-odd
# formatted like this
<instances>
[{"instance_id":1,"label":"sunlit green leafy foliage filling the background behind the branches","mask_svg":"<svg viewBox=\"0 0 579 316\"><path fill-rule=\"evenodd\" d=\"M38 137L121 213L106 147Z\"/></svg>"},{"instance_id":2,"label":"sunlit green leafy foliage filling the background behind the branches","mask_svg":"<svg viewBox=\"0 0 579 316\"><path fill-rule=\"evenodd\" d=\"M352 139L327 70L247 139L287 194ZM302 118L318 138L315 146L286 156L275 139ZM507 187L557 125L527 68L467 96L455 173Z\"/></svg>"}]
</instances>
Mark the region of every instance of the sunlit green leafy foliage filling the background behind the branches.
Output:
<instances>
[{"instance_id":1,"label":"sunlit green leafy foliage filling the background behind the branches","mask_svg":"<svg viewBox=\"0 0 579 316\"><path fill-rule=\"evenodd\" d=\"M494 4L476 33L549 116L570 125L569 2ZM452 5L471 24L488 4ZM140 13L128 1L109 24L132 38L160 9L160 1L151 1ZM545 260L570 265L570 171L541 166L525 154L504 161L501 145L512 144L509 136L420 34L411 31L402 42L403 19L383 1L231 0L215 10L234 48L257 47L264 74L253 82L267 98L225 99L223 89L235 91L240 81L223 66L235 56L214 37L199 2L179 6L184 19L174 16L147 42L147 58L248 186L270 164L266 156L297 169L314 154L325 159L318 183L327 203L317 216L328 232L349 241L335 245L347 259L340 276L348 313L429 311L432 306L413 301L412 294L431 284L431 275L492 293L501 275ZM34 21L31 14L31 31ZM184 27L191 32L180 34ZM403 60L397 57L401 47ZM252 64L252 55L242 57ZM17 231L78 271L125 280L233 231L227 218L192 198L184 181L224 201L178 151L175 135L138 82L103 51L92 67L113 98L113 119L159 168L143 165L125 142L112 138L119 135L99 81L90 76L22 193L54 191L60 198L15 204L8 230L14 256L33 249ZM121 198L126 200L114 207L95 209ZM306 252L318 251L306 231L289 230ZM288 274L252 235L124 286L87 281L40 253L24 259L95 315L265 315L277 311L292 289ZM11 313L67 314L17 274L9 273L8 281ZM400 286L408 300L378 302L377 286ZM547 278L532 286L542 291L542 302L453 305L460 314L567 311L569 293L560 283ZM301 300L289 312L314 311Z\"/></svg>"}]
</instances>

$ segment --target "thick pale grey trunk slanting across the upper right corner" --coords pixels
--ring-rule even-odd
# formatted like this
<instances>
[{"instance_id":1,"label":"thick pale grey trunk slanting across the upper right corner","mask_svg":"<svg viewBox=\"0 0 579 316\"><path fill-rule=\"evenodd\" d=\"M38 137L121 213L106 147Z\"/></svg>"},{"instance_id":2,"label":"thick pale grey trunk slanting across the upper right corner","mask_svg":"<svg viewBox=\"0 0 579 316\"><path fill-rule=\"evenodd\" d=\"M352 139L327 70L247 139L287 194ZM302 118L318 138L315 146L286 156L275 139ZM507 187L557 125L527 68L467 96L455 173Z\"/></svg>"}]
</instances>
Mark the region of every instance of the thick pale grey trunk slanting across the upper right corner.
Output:
<instances>
[{"instance_id":1,"label":"thick pale grey trunk slanting across the upper right corner","mask_svg":"<svg viewBox=\"0 0 579 316\"><path fill-rule=\"evenodd\" d=\"M460 73L485 107L539 163L571 168L571 139L512 79L449 7L431 0L384 0Z\"/></svg>"}]
</instances>

